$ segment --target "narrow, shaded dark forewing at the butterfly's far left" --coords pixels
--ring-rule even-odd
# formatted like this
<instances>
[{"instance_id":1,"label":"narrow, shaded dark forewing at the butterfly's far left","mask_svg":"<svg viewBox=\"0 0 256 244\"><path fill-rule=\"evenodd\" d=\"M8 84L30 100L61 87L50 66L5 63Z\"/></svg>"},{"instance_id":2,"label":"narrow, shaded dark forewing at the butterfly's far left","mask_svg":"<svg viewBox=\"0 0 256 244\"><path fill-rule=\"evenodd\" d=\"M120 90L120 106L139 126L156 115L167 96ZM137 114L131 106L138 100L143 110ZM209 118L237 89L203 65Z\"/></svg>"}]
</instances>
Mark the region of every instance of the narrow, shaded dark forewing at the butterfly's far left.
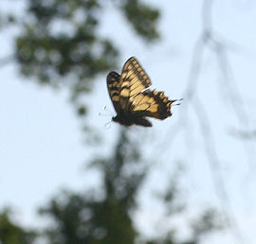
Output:
<instances>
[{"instance_id":1,"label":"narrow, shaded dark forewing at the butterfly's far left","mask_svg":"<svg viewBox=\"0 0 256 244\"><path fill-rule=\"evenodd\" d=\"M107 90L113 106L117 113L120 111L119 92L120 92L120 75L117 72L110 72L107 75Z\"/></svg>"}]
</instances>

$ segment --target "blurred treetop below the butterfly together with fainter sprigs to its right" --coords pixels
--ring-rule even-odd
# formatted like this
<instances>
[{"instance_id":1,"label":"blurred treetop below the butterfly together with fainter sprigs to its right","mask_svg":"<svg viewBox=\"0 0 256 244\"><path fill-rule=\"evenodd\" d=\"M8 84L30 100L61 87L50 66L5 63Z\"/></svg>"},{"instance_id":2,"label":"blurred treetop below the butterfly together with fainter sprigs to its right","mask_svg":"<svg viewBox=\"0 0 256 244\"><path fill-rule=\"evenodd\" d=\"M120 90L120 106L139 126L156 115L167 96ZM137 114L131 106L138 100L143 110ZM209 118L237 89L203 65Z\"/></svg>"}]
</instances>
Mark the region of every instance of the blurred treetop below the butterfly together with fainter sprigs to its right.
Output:
<instances>
[{"instance_id":1,"label":"blurred treetop below the butterfly together with fainter sprigs to its right","mask_svg":"<svg viewBox=\"0 0 256 244\"><path fill-rule=\"evenodd\" d=\"M176 240L178 230L174 228L153 240L143 238L134 225L133 214L137 211L137 191L148 170L137 145L125 130L120 131L113 154L90 164L101 170L101 187L83 193L65 191L41 209L42 215L53 219L45 231L48 244L195 244L199 237L219 227L216 213L208 210L192 222L189 241ZM166 207L178 214L173 204L176 188L171 191L174 197L166 199Z\"/></svg>"}]
</instances>

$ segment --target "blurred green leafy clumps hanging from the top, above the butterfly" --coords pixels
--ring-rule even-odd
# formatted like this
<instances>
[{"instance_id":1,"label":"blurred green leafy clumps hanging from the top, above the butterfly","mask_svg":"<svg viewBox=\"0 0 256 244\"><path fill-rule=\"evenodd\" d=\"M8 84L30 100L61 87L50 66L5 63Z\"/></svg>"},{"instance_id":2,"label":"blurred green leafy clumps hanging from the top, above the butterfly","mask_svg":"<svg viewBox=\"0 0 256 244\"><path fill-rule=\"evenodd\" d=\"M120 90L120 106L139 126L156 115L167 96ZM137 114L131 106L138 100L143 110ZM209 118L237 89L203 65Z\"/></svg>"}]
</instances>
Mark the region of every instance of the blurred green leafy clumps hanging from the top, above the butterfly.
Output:
<instances>
[{"instance_id":1,"label":"blurred green leafy clumps hanging from the top, above the butterfly","mask_svg":"<svg viewBox=\"0 0 256 244\"><path fill-rule=\"evenodd\" d=\"M73 98L90 91L93 78L114 68L119 54L112 37L99 35L103 7L100 0L29 0L16 39L22 73L41 83L67 85ZM155 40L158 10L139 1L124 1L120 9L138 35Z\"/></svg>"}]
</instances>

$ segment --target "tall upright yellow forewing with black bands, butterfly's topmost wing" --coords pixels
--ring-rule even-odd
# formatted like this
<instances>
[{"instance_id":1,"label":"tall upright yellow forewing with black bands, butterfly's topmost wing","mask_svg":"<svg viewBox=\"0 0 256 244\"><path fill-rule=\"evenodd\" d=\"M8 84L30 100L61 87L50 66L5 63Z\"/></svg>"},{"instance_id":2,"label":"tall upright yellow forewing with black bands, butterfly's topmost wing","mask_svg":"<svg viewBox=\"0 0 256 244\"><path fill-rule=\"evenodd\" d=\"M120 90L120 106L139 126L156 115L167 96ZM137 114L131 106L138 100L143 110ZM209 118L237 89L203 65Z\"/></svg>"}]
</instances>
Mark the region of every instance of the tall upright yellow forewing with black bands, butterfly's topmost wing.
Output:
<instances>
[{"instance_id":1,"label":"tall upright yellow forewing with black bands, butterfly's topmost wing","mask_svg":"<svg viewBox=\"0 0 256 244\"><path fill-rule=\"evenodd\" d=\"M150 78L136 58L132 57L126 61L120 76L119 105L121 109L129 111L131 100L151 85Z\"/></svg>"}]
</instances>

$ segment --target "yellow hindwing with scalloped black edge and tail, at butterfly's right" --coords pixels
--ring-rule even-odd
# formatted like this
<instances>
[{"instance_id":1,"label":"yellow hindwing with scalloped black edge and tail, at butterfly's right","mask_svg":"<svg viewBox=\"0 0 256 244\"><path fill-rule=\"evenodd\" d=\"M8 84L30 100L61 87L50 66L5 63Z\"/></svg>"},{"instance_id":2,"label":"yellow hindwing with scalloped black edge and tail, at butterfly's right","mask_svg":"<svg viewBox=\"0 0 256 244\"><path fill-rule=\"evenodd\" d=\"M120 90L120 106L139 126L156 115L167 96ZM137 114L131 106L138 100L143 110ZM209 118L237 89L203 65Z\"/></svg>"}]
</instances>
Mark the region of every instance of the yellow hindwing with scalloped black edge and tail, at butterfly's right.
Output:
<instances>
[{"instance_id":1,"label":"yellow hindwing with scalloped black edge and tail, at butterfly's right","mask_svg":"<svg viewBox=\"0 0 256 244\"><path fill-rule=\"evenodd\" d=\"M169 100L163 92L146 90L132 100L131 110L141 116L165 119L172 116L171 106L174 100Z\"/></svg>"}]
</instances>

